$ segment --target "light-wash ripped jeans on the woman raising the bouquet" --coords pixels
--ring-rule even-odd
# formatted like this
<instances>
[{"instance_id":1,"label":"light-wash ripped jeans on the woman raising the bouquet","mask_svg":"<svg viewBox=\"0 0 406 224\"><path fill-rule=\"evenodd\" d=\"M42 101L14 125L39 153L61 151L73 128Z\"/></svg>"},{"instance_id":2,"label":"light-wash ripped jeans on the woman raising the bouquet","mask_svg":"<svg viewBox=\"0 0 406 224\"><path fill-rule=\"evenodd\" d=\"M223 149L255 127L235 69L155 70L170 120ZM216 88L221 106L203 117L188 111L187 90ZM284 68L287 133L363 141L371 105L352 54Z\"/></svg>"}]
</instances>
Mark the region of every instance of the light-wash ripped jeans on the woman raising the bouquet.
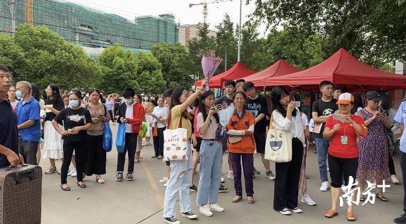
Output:
<instances>
[{"instance_id":1,"label":"light-wash ripped jeans on the woman raising the bouquet","mask_svg":"<svg viewBox=\"0 0 406 224\"><path fill-rule=\"evenodd\" d=\"M192 183L191 170L193 167L192 146L188 141L186 156L188 160L171 161L171 173L168 186L165 191L163 204L163 217L175 216L175 204L179 192L179 205L181 212L192 210L189 187ZM184 173L179 175L182 171Z\"/></svg>"}]
</instances>

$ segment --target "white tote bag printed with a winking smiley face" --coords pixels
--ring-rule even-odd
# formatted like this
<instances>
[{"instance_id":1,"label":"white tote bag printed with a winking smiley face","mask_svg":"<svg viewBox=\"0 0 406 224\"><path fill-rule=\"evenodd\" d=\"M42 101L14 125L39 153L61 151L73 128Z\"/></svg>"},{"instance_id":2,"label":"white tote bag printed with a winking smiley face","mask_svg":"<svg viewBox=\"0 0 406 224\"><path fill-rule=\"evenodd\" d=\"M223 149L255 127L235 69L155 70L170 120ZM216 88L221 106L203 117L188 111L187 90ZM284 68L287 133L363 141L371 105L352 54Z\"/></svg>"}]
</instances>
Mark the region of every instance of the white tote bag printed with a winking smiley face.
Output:
<instances>
[{"instance_id":1,"label":"white tote bag printed with a winking smiley face","mask_svg":"<svg viewBox=\"0 0 406 224\"><path fill-rule=\"evenodd\" d=\"M292 160L292 134L274 129L273 115L265 145L265 159L275 163L286 163Z\"/></svg>"}]
</instances>

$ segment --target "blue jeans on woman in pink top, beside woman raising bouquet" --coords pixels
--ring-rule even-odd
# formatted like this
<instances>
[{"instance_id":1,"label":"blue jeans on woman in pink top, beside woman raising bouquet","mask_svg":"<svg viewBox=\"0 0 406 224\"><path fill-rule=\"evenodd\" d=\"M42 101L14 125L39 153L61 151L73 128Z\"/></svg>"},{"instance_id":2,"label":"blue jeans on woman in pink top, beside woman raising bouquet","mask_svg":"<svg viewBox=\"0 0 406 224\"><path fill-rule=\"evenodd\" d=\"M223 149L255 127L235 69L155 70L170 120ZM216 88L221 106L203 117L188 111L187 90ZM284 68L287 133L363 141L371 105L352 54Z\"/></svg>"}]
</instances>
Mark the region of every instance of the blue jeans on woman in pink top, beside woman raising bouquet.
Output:
<instances>
[{"instance_id":1,"label":"blue jeans on woman in pink top, beside woman raising bouquet","mask_svg":"<svg viewBox=\"0 0 406 224\"><path fill-rule=\"evenodd\" d=\"M217 203L221 179L221 164L223 162L221 142L203 139L199 160L200 179L196 202L198 205L205 205L208 202Z\"/></svg>"}]
</instances>

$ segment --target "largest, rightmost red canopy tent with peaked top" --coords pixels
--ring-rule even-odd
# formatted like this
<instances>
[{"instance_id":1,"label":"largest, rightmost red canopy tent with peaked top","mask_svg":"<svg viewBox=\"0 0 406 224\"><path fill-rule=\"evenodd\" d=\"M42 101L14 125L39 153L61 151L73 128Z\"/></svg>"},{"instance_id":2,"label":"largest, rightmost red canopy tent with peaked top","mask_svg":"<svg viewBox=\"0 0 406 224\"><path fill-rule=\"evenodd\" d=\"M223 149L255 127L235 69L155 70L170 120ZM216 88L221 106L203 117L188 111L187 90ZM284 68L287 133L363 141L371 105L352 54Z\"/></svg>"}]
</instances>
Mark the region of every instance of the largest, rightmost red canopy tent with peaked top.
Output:
<instances>
[{"instance_id":1,"label":"largest, rightmost red canopy tent with peaked top","mask_svg":"<svg viewBox=\"0 0 406 224\"><path fill-rule=\"evenodd\" d=\"M265 85L318 92L318 85L323 80L330 80L347 92L406 89L406 76L371 67L342 48L306 70L266 78Z\"/></svg>"}]
</instances>

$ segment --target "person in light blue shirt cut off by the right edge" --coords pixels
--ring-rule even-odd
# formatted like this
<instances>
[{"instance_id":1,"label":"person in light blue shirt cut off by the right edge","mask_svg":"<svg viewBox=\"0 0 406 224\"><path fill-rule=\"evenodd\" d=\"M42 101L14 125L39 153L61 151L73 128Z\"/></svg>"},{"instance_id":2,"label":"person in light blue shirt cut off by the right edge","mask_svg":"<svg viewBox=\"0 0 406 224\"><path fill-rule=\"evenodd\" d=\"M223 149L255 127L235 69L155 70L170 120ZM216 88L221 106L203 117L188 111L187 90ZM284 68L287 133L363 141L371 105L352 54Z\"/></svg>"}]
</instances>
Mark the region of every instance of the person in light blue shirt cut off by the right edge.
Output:
<instances>
[{"instance_id":1,"label":"person in light blue shirt cut off by the right edge","mask_svg":"<svg viewBox=\"0 0 406 224\"><path fill-rule=\"evenodd\" d=\"M401 124L402 130L402 137L401 137L401 152L400 152L400 162L401 162L401 169L402 169L402 176L403 182L406 183L406 131L405 131L405 123L406 123L406 99L403 99L401 106L398 109L398 112L395 115L396 122ZM395 223L406 224L406 184L403 184L404 189L404 198L403 198L403 211L405 213L394 220Z\"/></svg>"}]
</instances>

